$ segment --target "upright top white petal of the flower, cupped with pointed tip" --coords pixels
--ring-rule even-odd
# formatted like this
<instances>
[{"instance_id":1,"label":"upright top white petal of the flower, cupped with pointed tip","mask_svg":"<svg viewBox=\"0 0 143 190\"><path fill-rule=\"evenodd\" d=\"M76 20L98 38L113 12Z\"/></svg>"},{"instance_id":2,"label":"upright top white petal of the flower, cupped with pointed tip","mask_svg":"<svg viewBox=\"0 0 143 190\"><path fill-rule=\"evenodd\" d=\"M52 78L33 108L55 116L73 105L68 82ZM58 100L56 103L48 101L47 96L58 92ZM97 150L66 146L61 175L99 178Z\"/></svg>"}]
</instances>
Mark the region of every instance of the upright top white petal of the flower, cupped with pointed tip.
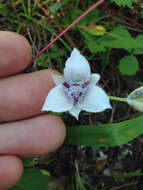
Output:
<instances>
[{"instance_id":1,"label":"upright top white petal of the flower, cupped with pointed tip","mask_svg":"<svg viewBox=\"0 0 143 190\"><path fill-rule=\"evenodd\" d=\"M66 80L84 82L90 78L90 74L88 61L74 48L65 65L64 76Z\"/></svg>"}]
</instances>

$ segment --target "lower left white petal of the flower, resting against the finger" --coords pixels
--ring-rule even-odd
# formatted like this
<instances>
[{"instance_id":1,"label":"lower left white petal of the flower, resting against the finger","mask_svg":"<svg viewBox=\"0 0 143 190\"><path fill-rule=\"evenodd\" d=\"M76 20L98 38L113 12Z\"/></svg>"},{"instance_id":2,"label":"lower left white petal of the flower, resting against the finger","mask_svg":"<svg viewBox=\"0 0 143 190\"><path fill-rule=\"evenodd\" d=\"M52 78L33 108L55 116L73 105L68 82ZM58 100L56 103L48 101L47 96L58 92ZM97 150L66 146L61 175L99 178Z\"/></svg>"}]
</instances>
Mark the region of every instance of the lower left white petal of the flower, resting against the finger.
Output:
<instances>
[{"instance_id":1,"label":"lower left white petal of the flower, resting against the finger","mask_svg":"<svg viewBox=\"0 0 143 190\"><path fill-rule=\"evenodd\" d=\"M71 109L72 103L68 101L62 85L58 85L49 92L42 111L64 112Z\"/></svg>"}]
</instances>

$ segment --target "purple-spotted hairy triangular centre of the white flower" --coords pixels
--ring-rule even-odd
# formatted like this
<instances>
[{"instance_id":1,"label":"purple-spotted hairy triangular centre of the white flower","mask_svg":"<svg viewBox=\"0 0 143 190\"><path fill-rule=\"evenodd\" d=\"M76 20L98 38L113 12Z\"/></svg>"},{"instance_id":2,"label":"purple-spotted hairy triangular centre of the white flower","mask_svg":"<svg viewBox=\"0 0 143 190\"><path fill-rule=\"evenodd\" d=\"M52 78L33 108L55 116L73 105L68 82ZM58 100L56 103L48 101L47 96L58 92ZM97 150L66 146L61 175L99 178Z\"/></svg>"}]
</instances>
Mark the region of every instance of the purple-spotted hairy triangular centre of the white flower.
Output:
<instances>
[{"instance_id":1,"label":"purple-spotted hairy triangular centre of the white flower","mask_svg":"<svg viewBox=\"0 0 143 190\"><path fill-rule=\"evenodd\" d=\"M84 97L89 82L64 82L63 88L66 95L70 98L73 105L77 105Z\"/></svg>"}]
</instances>

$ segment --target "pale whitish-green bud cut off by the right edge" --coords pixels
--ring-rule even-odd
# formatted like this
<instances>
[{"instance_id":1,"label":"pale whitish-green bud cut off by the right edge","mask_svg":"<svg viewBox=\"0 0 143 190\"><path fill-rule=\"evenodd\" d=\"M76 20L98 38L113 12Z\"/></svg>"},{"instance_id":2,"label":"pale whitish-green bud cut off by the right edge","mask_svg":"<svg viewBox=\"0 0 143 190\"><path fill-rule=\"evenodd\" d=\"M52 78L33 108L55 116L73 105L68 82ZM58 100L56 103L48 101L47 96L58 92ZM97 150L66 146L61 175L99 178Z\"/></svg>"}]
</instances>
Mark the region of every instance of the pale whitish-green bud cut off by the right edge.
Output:
<instances>
[{"instance_id":1,"label":"pale whitish-green bud cut off by the right edge","mask_svg":"<svg viewBox=\"0 0 143 190\"><path fill-rule=\"evenodd\" d=\"M127 102L137 111L143 112L143 86L131 92L127 97Z\"/></svg>"}]
</instances>

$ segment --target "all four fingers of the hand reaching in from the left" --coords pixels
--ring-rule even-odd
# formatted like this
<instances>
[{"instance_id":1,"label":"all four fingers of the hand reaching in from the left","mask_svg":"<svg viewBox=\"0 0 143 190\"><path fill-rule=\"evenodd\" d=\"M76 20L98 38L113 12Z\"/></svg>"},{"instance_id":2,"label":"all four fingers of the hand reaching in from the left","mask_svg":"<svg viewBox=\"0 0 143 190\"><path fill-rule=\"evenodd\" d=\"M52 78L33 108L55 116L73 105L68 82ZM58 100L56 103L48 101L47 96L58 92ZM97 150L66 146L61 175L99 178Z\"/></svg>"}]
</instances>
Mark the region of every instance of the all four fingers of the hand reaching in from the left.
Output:
<instances>
[{"instance_id":1,"label":"all four fingers of the hand reaching in from the left","mask_svg":"<svg viewBox=\"0 0 143 190\"><path fill-rule=\"evenodd\" d=\"M20 157L52 152L65 138L63 121L41 112L54 87L53 71L21 74L31 58L31 46L23 36L0 31L0 190L20 179Z\"/></svg>"}]
</instances>

